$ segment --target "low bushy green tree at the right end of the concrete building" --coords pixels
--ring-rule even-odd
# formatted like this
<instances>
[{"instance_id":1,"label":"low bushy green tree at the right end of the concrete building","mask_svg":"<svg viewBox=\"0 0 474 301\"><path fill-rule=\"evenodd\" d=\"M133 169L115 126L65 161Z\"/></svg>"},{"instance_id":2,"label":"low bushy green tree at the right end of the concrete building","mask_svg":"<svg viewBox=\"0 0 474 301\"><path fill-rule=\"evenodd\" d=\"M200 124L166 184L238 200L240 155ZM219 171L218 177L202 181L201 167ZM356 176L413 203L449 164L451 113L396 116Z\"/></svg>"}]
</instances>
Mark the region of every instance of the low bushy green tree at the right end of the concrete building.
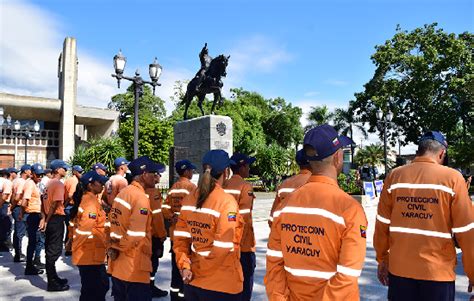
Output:
<instances>
[{"instance_id":1,"label":"low bushy green tree at the right end of the concrete building","mask_svg":"<svg viewBox=\"0 0 474 301\"><path fill-rule=\"evenodd\" d=\"M125 156L125 148L118 137L92 138L76 147L69 159L71 165L81 165L88 170L97 162L107 166L109 171L114 171L114 160ZM131 158L131 156L127 156Z\"/></svg>"}]
</instances>

